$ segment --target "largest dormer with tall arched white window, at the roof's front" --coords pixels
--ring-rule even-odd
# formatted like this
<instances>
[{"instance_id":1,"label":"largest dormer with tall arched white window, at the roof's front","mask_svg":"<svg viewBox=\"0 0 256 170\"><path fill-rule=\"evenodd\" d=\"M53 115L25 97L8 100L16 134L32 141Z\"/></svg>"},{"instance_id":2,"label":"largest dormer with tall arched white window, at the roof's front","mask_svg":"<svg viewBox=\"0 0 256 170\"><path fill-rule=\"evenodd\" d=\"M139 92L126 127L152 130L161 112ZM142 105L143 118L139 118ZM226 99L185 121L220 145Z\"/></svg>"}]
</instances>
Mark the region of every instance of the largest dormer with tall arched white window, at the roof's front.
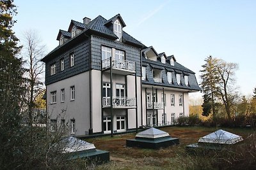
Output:
<instances>
[{"instance_id":1,"label":"largest dormer with tall arched white window, at the roof's front","mask_svg":"<svg viewBox=\"0 0 256 170\"><path fill-rule=\"evenodd\" d=\"M115 15L115 17L112 17L109 20L107 20L104 25L106 25L106 27L108 27L109 29L112 29L114 34L117 36L116 41L122 41L123 28L126 25L119 13L118 15Z\"/></svg>"}]
</instances>

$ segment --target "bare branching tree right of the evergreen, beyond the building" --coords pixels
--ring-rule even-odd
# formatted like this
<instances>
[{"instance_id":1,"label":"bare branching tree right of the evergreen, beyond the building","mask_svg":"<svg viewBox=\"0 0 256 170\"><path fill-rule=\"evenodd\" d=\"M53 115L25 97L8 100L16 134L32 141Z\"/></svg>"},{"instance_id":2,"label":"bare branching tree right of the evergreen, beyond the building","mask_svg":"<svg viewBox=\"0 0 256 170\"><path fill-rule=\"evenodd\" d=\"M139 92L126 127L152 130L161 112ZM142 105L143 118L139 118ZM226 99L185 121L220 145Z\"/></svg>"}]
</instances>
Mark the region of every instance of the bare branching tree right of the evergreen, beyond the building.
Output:
<instances>
[{"instance_id":1,"label":"bare branching tree right of the evergreen, beyond the building","mask_svg":"<svg viewBox=\"0 0 256 170\"><path fill-rule=\"evenodd\" d=\"M225 105L225 110L227 112L227 116L231 119L231 106L232 101L234 100L234 83L236 79L234 78L235 71L238 69L238 65L232 62L225 62L224 60L218 60L216 64L218 74L220 76L220 82L218 85L218 94L220 95L220 99Z\"/></svg>"}]
</instances>

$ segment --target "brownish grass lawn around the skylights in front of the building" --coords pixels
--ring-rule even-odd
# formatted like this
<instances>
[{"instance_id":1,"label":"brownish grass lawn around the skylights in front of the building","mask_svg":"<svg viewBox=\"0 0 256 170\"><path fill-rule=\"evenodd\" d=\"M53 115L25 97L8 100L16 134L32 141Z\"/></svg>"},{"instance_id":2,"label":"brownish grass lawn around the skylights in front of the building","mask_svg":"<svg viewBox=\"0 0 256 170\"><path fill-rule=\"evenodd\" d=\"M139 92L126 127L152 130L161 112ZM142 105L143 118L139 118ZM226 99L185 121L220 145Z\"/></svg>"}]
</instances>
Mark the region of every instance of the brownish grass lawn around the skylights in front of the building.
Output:
<instances>
[{"instance_id":1,"label":"brownish grass lawn around the skylights in front of the building","mask_svg":"<svg viewBox=\"0 0 256 170\"><path fill-rule=\"evenodd\" d=\"M86 139L93 143L99 150L110 152L110 162L97 166L96 169L184 169L183 156L185 146L196 143L198 139L218 129L207 127L163 127L159 128L168 132L171 137L179 138L180 145L170 146L160 150L126 147L126 139L135 138L135 133L103 136L100 138ZM227 129L223 130L234 134L247 136L252 134L252 129Z\"/></svg>"}]
</instances>

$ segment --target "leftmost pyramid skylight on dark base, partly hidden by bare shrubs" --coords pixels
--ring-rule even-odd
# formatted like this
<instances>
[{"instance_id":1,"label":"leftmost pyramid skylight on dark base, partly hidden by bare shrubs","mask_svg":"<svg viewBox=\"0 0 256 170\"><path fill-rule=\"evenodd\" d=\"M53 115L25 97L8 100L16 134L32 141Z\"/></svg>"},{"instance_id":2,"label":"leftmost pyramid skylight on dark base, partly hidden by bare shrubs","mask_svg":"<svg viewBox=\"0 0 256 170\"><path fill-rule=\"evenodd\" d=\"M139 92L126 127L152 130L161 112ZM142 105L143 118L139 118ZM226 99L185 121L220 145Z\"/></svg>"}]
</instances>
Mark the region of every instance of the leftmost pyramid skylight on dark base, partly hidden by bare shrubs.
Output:
<instances>
[{"instance_id":1,"label":"leftmost pyramid skylight on dark base, partly hidden by bare shrubs","mask_svg":"<svg viewBox=\"0 0 256 170\"><path fill-rule=\"evenodd\" d=\"M96 162L108 162L109 152L97 150L92 143L88 143L72 136L61 141L64 154L69 154L69 159L86 158Z\"/></svg>"}]
</instances>

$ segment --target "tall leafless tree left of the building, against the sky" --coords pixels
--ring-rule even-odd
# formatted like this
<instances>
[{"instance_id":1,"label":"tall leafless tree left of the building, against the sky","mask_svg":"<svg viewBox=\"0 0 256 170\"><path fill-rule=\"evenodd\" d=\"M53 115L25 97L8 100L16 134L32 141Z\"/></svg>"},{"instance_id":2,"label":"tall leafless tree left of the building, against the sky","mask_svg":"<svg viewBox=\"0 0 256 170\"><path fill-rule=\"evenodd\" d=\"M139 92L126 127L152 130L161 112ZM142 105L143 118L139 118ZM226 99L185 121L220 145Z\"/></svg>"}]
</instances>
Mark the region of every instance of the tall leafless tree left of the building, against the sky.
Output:
<instances>
[{"instance_id":1,"label":"tall leafless tree left of the building, against the sky","mask_svg":"<svg viewBox=\"0 0 256 170\"><path fill-rule=\"evenodd\" d=\"M24 31L24 48L22 57L26 60L24 74L28 93L24 96L28 105L28 123L33 124L33 109L35 108L36 97L44 91L43 73L44 63L40 61L45 55L45 45L42 45L41 39L36 34L36 31Z\"/></svg>"}]
</instances>

